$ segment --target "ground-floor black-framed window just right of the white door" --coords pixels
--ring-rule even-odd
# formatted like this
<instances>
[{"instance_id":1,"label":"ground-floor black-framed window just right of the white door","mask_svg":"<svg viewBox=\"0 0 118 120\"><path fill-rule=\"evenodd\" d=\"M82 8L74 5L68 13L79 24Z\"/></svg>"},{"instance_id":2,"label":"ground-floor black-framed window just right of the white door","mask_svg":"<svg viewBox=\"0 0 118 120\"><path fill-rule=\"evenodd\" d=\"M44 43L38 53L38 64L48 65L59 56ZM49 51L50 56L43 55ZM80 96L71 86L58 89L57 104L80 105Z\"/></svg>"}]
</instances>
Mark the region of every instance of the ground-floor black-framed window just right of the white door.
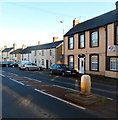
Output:
<instances>
[{"instance_id":1,"label":"ground-floor black-framed window just right of the white door","mask_svg":"<svg viewBox=\"0 0 118 120\"><path fill-rule=\"evenodd\" d=\"M91 55L91 70L98 71L99 66L98 66L98 55Z\"/></svg>"}]
</instances>

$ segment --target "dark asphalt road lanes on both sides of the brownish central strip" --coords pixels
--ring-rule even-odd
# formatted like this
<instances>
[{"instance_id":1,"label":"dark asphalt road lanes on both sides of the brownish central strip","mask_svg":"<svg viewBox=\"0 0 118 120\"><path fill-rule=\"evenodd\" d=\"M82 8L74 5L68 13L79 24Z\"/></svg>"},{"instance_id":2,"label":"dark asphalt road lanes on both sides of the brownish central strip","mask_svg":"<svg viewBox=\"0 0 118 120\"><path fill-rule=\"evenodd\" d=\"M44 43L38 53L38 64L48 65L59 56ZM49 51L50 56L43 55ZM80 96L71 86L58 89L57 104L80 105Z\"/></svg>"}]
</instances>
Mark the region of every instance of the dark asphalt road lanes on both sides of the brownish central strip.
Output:
<instances>
[{"instance_id":1,"label":"dark asphalt road lanes on both sides of the brownish central strip","mask_svg":"<svg viewBox=\"0 0 118 120\"><path fill-rule=\"evenodd\" d=\"M73 106L51 95L11 79L10 75L39 80L48 84L79 90L75 81L69 77L46 74L43 71L22 71L18 68L3 68L2 74L2 115L3 118L96 118L86 108ZM97 85L93 92L115 99L115 88ZM106 89L101 89L106 88Z\"/></svg>"}]
</instances>

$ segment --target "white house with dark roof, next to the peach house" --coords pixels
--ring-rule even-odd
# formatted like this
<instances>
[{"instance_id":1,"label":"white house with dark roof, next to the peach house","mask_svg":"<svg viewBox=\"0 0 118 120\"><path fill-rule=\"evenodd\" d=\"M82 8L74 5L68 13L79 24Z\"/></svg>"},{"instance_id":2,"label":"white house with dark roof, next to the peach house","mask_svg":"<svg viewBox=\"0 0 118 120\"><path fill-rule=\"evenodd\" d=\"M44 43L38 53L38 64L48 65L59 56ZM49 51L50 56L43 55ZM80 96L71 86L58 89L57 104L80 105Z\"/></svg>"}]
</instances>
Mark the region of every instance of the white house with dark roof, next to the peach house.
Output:
<instances>
[{"instance_id":1,"label":"white house with dark roof, next to the peach house","mask_svg":"<svg viewBox=\"0 0 118 120\"><path fill-rule=\"evenodd\" d=\"M55 41L54 38L52 43L37 46L31 52L32 62L36 63L39 67L46 69L52 64L63 63L62 44L63 41Z\"/></svg>"}]
</instances>

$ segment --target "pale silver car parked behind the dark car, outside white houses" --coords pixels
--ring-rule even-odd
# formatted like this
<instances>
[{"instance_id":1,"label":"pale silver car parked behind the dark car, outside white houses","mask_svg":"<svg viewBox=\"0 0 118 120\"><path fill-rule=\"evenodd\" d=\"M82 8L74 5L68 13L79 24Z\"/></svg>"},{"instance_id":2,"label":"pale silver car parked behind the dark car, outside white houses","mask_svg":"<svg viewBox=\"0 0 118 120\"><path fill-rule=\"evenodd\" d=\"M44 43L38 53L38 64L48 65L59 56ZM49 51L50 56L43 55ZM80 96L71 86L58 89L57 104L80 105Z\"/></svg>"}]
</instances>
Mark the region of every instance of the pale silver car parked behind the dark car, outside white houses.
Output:
<instances>
[{"instance_id":1,"label":"pale silver car parked behind the dark car, outside white houses","mask_svg":"<svg viewBox=\"0 0 118 120\"><path fill-rule=\"evenodd\" d=\"M39 70L39 67L35 63L25 63L21 66L21 69L24 69L26 71Z\"/></svg>"}]
</instances>

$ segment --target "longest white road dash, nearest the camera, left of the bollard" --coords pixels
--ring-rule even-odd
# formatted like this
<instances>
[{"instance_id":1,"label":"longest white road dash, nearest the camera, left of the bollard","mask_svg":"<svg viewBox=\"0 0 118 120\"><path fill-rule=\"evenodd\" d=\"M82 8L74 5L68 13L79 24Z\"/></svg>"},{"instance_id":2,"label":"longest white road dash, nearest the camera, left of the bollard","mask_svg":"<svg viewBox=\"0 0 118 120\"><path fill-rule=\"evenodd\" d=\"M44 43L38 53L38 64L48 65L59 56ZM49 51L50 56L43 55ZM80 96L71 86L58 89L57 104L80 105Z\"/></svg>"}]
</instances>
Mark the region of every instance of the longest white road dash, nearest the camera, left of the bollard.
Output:
<instances>
[{"instance_id":1,"label":"longest white road dash, nearest the camera, left of the bollard","mask_svg":"<svg viewBox=\"0 0 118 120\"><path fill-rule=\"evenodd\" d=\"M67 104L70 104L70 105L72 105L72 106L74 106L74 107L77 107L77 108L86 110L85 107L82 107L82 106L79 106L79 105L70 103L70 102L68 102L68 101L66 101L66 100L63 100L63 99L61 99L61 98L58 98L58 97L56 97L56 96L53 96L53 95L48 94L48 93L46 93L46 92L43 92L43 91L41 91L41 90L38 90L38 89L34 89L34 90L37 91L37 92L40 92L40 93L42 93L42 94L44 94L44 95L47 95L47 96L50 96L50 97L55 98L55 99L57 99L57 100L60 100L60 101L62 101L62 102L65 102L65 103L67 103Z\"/></svg>"}]
</instances>

